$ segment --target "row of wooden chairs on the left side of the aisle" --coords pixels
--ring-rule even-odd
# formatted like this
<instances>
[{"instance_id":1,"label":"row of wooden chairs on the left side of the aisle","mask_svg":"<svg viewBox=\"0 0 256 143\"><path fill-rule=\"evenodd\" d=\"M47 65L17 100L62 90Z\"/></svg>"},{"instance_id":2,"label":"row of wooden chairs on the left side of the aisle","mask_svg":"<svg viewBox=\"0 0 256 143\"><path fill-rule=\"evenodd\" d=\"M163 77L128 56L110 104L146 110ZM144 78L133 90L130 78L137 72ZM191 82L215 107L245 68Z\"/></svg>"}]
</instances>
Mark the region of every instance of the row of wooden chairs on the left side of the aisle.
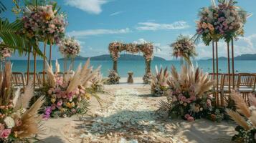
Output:
<instances>
[{"instance_id":1,"label":"row of wooden chairs on the left side of the aisle","mask_svg":"<svg viewBox=\"0 0 256 143\"><path fill-rule=\"evenodd\" d=\"M72 74L72 73L59 72L58 74L63 77L64 74ZM44 78L45 78L45 80L48 79L46 73L44 74ZM33 81L33 80L34 80L34 73L30 72L29 73L29 81ZM11 83L16 87L25 87L25 85L27 84L27 72L25 72L24 74L22 72L12 72ZM36 73L35 74L35 85L37 87L40 87L42 84L43 84L43 72Z\"/></svg>"}]
</instances>

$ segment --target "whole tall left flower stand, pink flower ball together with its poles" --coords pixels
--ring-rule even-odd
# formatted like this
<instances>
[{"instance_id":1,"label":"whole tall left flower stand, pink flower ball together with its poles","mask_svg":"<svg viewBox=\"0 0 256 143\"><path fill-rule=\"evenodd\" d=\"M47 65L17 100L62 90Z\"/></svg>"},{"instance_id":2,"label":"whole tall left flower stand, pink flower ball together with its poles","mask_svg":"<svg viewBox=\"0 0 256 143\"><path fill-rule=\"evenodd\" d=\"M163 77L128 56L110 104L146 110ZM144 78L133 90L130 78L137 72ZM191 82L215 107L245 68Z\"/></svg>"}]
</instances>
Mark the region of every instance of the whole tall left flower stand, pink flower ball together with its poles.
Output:
<instances>
[{"instance_id":1,"label":"whole tall left flower stand, pink flower ball together with its poles","mask_svg":"<svg viewBox=\"0 0 256 143\"><path fill-rule=\"evenodd\" d=\"M22 33L25 34L30 39L30 41L32 41L32 46L29 47L29 51L33 51L34 53L35 79L36 57L37 51L39 49L38 42L44 42L44 62L46 60L46 45L50 45L50 61L52 56L52 45L60 43L60 39L62 39L65 34L65 26L67 25L67 22L65 21L65 17L62 14L57 13L59 10L57 10L56 3L46 6L29 5L25 8L26 9L24 9L22 16L22 21L24 22L24 29L22 29ZM30 55L28 54L27 82L29 81L29 60ZM51 64L51 62L49 62L49 64Z\"/></svg>"}]
</instances>

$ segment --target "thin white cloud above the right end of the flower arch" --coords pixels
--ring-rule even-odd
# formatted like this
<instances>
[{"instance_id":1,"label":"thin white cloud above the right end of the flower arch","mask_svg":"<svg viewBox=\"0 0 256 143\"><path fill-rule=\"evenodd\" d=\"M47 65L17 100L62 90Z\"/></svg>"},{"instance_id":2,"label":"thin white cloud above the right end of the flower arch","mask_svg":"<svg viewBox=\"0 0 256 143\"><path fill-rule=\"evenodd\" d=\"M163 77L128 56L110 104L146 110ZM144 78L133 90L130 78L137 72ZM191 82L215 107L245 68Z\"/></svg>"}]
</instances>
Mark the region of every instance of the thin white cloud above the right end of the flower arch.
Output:
<instances>
[{"instance_id":1,"label":"thin white cloud above the right end of the flower arch","mask_svg":"<svg viewBox=\"0 0 256 143\"><path fill-rule=\"evenodd\" d=\"M189 28L189 24L186 21L176 21L172 24L158 24L154 22L140 22L140 26L136 27L138 30L174 30L174 29L186 29Z\"/></svg>"}]
</instances>

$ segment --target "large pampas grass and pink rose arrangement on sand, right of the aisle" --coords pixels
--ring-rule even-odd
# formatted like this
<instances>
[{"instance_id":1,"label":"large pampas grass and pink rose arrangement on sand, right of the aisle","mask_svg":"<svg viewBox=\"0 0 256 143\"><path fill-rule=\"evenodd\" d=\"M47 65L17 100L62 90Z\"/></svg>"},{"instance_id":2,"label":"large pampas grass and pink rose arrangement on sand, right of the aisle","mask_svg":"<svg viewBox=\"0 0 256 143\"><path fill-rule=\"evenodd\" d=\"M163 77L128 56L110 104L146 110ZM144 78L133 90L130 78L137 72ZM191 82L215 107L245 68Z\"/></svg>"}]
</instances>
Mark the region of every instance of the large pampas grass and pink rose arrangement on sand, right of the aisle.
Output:
<instances>
[{"instance_id":1,"label":"large pampas grass and pink rose arrangement on sand, right of the aisle","mask_svg":"<svg viewBox=\"0 0 256 143\"><path fill-rule=\"evenodd\" d=\"M168 102L161 101L158 112L188 121L204 117L212 110L212 98L207 92L214 84L207 76L192 66L182 66L181 74L178 74L173 66L168 81L169 89L166 90Z\"/></svg>"}]
</instances>

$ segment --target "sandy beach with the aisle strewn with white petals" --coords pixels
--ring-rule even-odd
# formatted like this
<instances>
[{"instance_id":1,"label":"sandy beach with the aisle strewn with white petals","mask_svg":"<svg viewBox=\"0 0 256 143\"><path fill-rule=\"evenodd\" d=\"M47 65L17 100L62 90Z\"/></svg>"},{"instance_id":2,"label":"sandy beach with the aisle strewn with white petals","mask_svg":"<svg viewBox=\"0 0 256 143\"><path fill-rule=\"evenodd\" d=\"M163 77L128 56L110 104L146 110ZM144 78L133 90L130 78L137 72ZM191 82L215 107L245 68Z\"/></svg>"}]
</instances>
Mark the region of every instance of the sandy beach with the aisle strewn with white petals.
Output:
<instances>
[{"instance_id":1,"label":"sandy beach with the aisle strewn with white petals","mask_svg":"<svg viewBox=\"0 0 256 143\"><path fill-rule=\"evenodd\" d=\"M44 124L41 142L230 142L235 134L232 122L206 119L195 122L170 120L155 114L165 97L151 97L150 86L141 78L134 84L105 85L81 121L77 117L49 119Z\"/></svg>"}]
</instances>

